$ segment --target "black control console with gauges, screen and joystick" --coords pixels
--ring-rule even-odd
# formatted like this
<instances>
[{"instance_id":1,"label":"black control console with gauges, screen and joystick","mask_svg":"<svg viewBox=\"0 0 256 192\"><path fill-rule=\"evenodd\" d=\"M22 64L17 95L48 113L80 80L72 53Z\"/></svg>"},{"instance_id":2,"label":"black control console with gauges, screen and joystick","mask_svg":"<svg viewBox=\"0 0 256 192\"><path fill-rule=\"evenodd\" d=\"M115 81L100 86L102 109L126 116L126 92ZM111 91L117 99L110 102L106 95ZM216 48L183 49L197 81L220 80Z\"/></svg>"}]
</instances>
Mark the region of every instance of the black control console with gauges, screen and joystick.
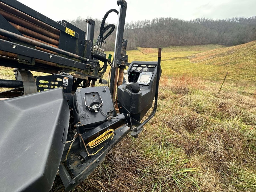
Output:
<instances>
[{"instance_id":1,"label":"black control console with gauges, screen and joystick","mask_svg":"<svg viewBox=\"0 0 256 192\"><path fill-rule=\"evenodd\" d=\"M152 107L156 91L156 74L156 61L133 61L130 64L127 71L124 71L123 84L117 87L120 113L126 111L130 113L131 118L141 121Z\"/></svg>"}]
</instances>

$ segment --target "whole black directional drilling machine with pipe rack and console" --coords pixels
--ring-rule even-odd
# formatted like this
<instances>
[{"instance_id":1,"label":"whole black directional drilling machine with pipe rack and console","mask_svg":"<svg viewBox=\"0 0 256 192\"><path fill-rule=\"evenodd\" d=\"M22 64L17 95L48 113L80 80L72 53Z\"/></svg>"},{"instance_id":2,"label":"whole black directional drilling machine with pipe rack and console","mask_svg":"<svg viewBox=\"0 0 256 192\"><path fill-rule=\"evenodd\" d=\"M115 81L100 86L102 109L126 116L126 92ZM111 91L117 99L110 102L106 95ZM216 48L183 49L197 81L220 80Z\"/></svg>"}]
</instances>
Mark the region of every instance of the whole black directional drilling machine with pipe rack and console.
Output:
<instances>
[{"instance_id":1,"label":"whole black directional drilling machine with pipe rack and console","mask_svg":"<svg viewBox=\"0 0 256 192\"><path fill-rule=\"evenodd\" d=\"M117 5L94 41L92 19L84 32L16 0L0 0L0 66L13 68L15 78L0 79L0 191L49 191L56 174L72 190L154 116L161 50L157 62L128 63L127 3ZM115 27L105 26L111 12L118 15L113 61L104 53ZM109 82L102 78L108 65ZM154 98L153 112L140 123Z\"/></svg>"}]
</instances>

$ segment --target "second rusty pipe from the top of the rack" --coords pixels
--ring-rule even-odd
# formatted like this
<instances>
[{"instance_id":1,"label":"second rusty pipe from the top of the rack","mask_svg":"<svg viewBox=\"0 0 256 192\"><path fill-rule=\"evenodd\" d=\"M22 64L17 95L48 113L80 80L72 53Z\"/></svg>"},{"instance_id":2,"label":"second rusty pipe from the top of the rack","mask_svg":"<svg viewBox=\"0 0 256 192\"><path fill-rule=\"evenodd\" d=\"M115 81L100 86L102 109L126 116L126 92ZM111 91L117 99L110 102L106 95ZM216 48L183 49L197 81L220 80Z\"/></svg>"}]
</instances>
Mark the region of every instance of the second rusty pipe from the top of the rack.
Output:
<instances>
[{"instance_id":1,"label":"second rusty pipe from the top of the rack","mask_svg":"<svg viewBox=\"0 0 256 192\"><path fill-rule=\"evenodd\" d=\"M4 10L0 9L0 14L5 18L7 19L7 21L9 22L12 22L12 23L15 23L15 24L18 24L22 27L25 27L27 29L30 29L30 30L33 30L34 32L37 32L37 33L40 33L42 35L45 35L45 36L48 36L52 39L55 39L55 40L59 40L60 39L60 35L57 35L53 32L50 32L40 26L37 26L29 21L26 21L22 18L19 18L11 13L8 13L8 12L5 12Z\"/></svg>"}]
</instances>

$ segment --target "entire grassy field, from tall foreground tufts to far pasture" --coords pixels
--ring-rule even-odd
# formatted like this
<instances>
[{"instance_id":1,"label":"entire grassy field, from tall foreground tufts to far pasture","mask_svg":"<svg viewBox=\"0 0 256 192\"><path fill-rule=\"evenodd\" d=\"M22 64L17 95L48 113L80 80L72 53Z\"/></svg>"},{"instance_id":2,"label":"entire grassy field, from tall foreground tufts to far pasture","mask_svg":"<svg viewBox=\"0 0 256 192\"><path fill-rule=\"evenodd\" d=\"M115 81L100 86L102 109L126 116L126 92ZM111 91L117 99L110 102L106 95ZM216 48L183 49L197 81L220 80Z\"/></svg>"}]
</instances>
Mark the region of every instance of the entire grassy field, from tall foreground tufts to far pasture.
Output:
<instances>
[{"instance_id":1,"label":"entire grassy field, from tall foreground tufts to far pasture","mask_svg":"<svg viewBox=\"0 0 256 192\"><path fill-rule=\"evenodd\" d=\"M256 191L255 46L163 48L156 115L74 191ZM127 54L157 60L157 49ZM59 177L52 191L64 191Z\"/></svg>"}]
</instances>

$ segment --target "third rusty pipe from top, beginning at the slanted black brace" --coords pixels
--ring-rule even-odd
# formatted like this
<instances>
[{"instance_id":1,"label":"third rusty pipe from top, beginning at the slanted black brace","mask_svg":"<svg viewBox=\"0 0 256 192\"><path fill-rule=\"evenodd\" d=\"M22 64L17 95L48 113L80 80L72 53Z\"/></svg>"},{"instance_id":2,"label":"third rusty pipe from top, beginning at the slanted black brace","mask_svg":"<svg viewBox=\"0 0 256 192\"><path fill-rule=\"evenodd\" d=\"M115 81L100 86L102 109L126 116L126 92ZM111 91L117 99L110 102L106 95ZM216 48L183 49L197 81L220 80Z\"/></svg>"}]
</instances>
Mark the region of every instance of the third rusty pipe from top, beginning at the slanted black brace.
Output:
<instances>
[{"instance_id":1,"label":"third rusty pipe from top, beginning at the slanted black brace","mask_svg":"<svg viewBox=\"0 0 256 192\"><path fill-rule=\"evenodd\" d=\"M59 41L57 41L55 39L52 39L52 38L49 38L47 36L41 35L40 33L31 31L31 30L29 30L25 27L21 27L21 26L15 24L15 23L12 23L12 22L10 22L10 24L12 24L12 26L15 27L21 33L32 36L36 39L40 39L40 40L45 41L47 43L51 43L51 44L54 44L54 45L57 45L57 46L59 45Z\"/></svg>"}]
</instances>

